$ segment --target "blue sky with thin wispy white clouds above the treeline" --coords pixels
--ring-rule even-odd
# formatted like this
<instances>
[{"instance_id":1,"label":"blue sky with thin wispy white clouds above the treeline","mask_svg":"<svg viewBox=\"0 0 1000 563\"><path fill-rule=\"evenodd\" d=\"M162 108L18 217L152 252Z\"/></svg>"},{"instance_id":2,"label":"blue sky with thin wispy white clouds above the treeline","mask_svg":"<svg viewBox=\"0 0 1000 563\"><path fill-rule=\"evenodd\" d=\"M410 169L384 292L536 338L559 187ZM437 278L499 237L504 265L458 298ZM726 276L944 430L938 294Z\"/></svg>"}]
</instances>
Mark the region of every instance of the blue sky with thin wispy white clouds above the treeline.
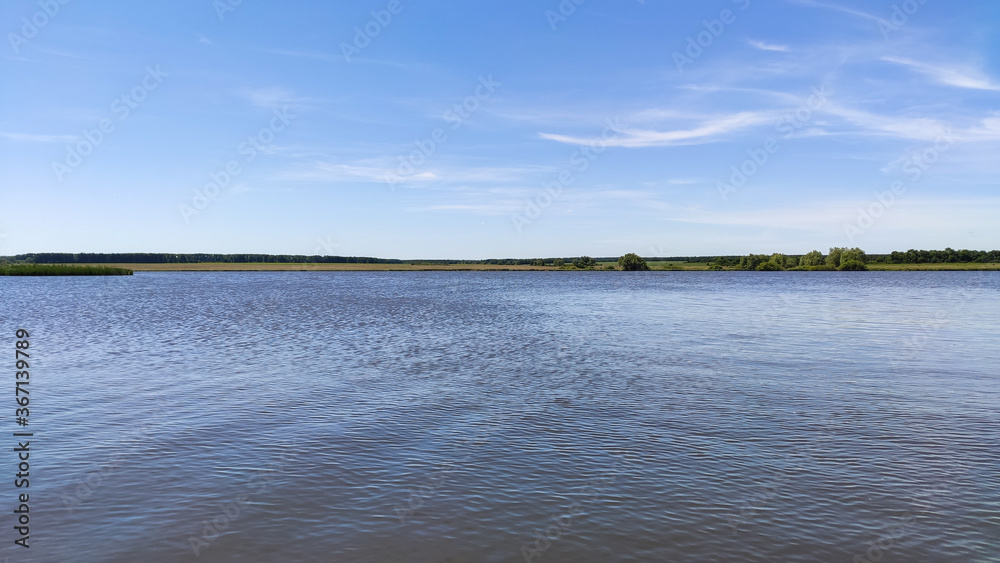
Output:
<instances>
[{"instance_id":1,"label":"blue sky with thin wispy white clouds above the treeline","mask_svg":"<svg viewBox=\"0 0 1000 563\"><path fill-rule=\"evenodd\" d=\"M10 0L0 22L0 255L1000 247L993 0Z\"/></svg>"}]
</instances>

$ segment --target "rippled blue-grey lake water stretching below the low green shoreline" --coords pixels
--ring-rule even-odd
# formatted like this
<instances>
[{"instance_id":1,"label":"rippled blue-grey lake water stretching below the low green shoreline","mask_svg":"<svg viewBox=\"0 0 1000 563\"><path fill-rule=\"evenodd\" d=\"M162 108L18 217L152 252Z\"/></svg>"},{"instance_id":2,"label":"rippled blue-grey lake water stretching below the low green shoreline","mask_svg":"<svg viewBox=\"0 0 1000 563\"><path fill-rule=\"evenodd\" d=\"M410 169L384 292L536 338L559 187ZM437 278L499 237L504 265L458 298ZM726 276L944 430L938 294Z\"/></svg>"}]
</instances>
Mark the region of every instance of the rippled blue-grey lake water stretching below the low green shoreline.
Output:
<instances>
[{"instance_id":1,"label":"rippled blue-grey lake water stretching below the low green shoreline","mask_svg":"<svg viewBox=\"0 0 1000 563\"><path fill-rule=\"evenodd\" d=\"M998 319L976 272L0 278L0 556L1000 561Z\"/></svg>"}]
</instances>

